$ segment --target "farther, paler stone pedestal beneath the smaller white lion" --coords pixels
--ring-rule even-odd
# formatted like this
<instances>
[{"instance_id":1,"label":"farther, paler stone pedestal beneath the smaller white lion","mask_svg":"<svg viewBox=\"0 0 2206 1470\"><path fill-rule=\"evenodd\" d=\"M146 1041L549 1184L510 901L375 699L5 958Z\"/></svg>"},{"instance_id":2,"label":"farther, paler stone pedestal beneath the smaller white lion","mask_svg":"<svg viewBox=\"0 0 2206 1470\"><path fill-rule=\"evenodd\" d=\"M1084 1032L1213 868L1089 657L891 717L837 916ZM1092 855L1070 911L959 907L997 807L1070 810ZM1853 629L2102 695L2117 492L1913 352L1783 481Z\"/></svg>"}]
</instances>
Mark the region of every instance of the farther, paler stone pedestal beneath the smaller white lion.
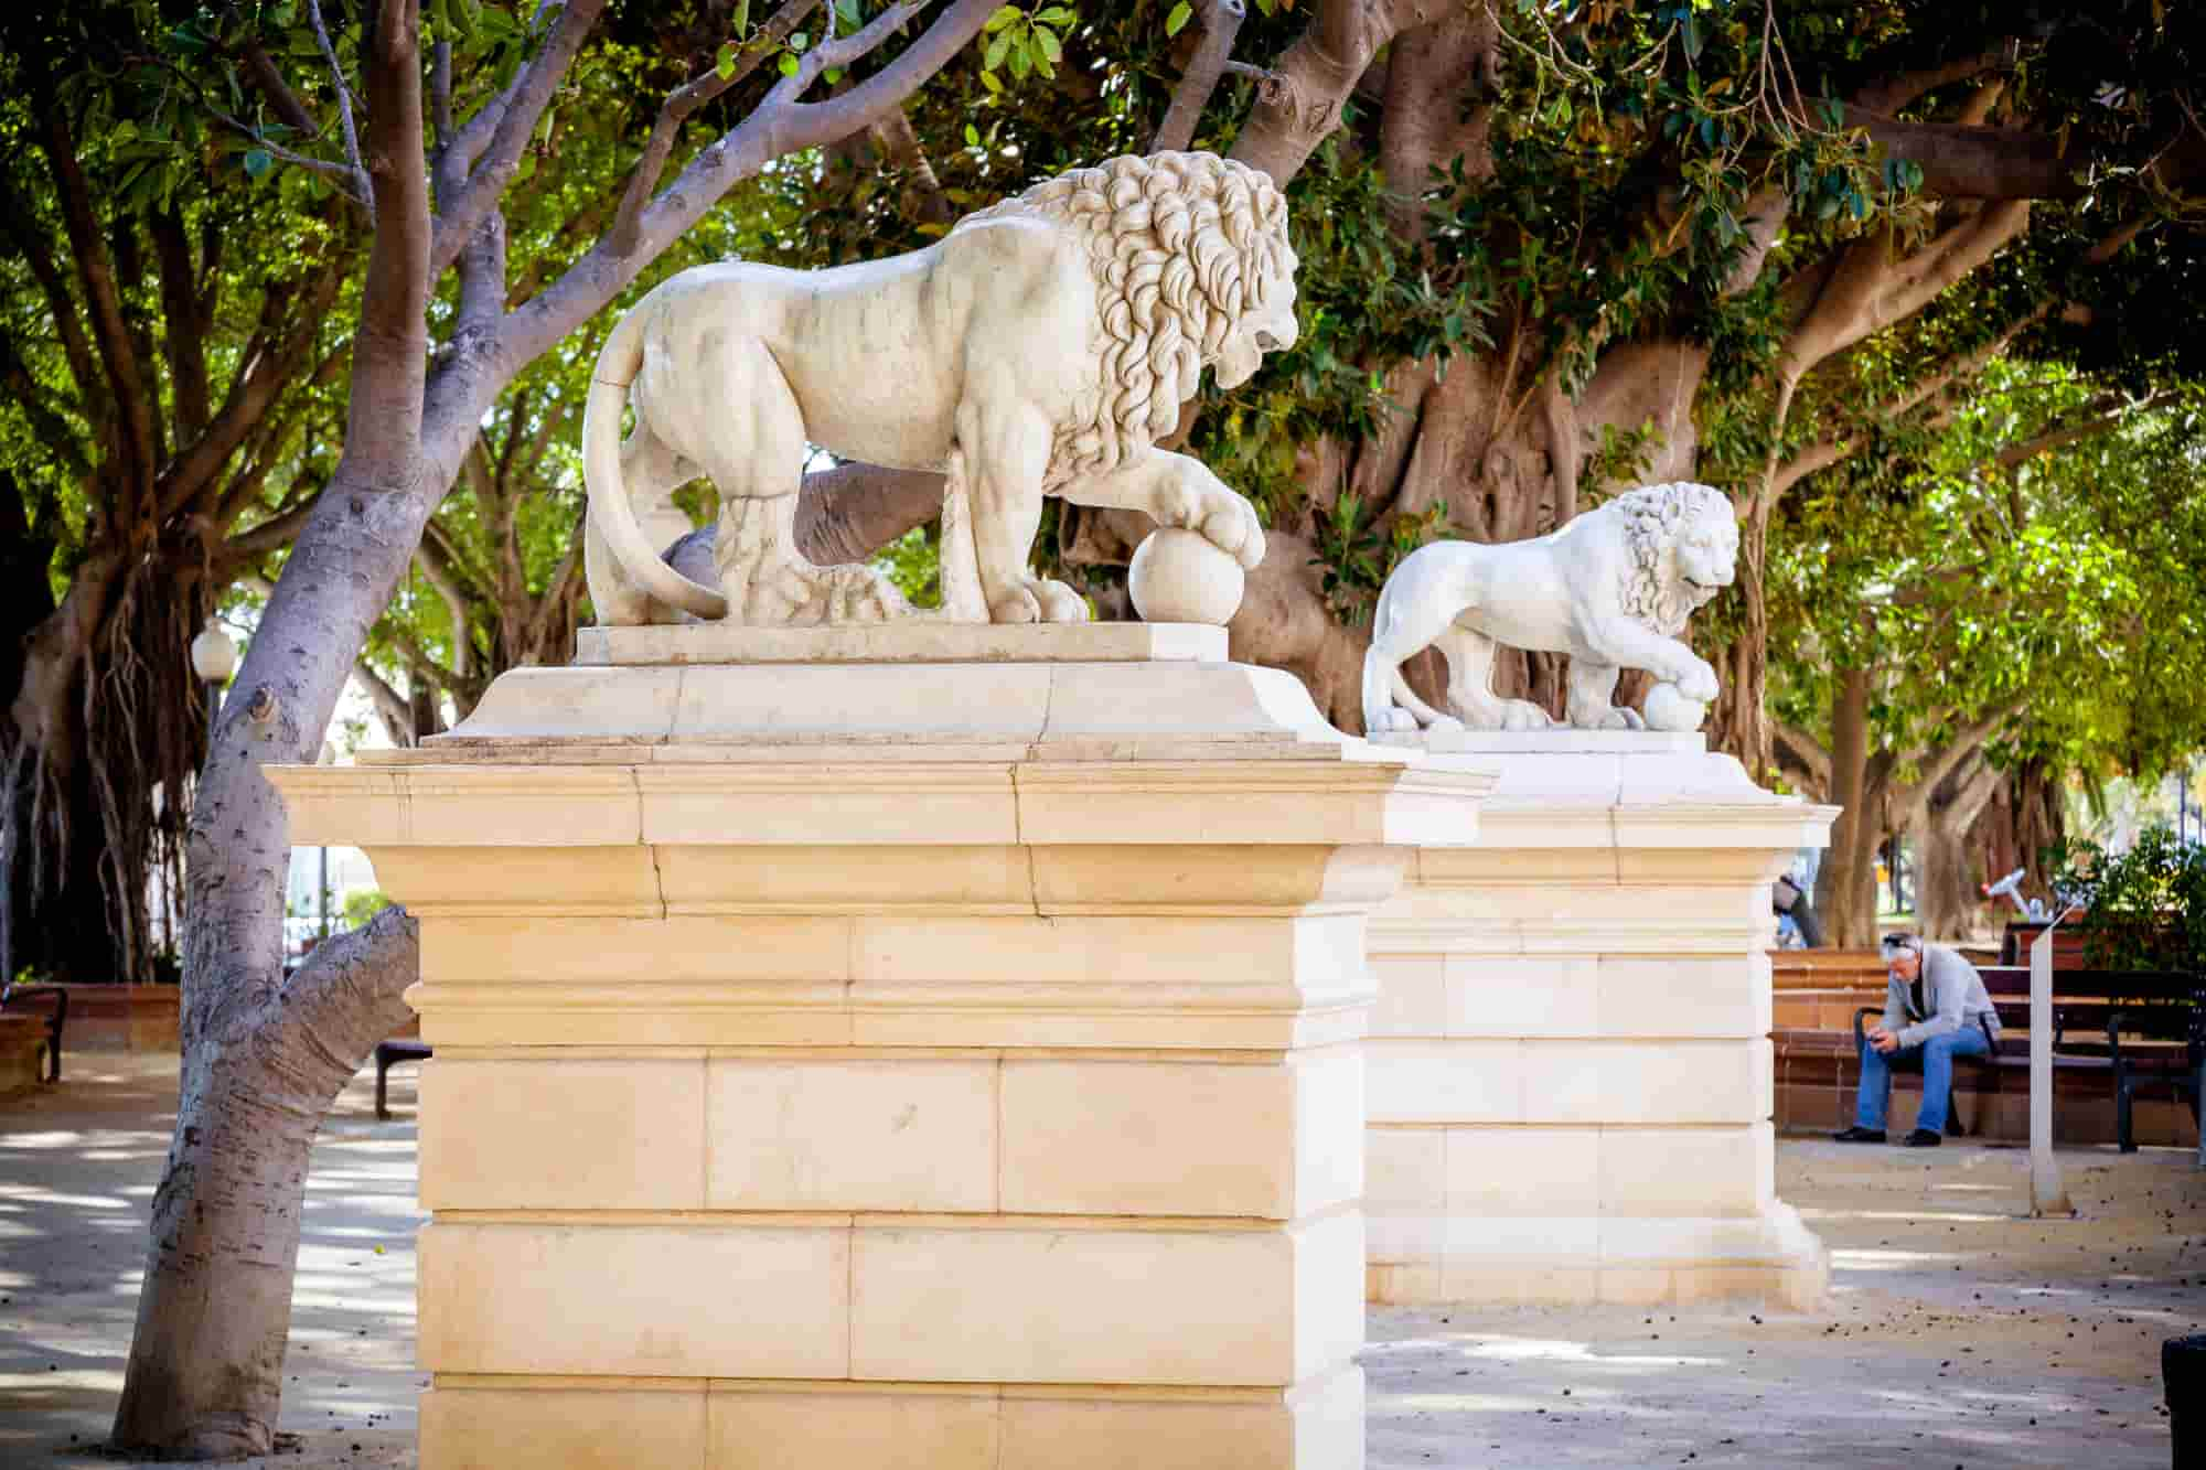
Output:
<instances>
[{"instance_id":1,"label":"farther, paler stone pedestal beneath the smaller white lion","mask_svg":"<svg viewBox=\"0 0 2206 1470\"><path fill-rule=\"evenodd\" d=\"M1813 1307L1774 1194L1769 883L1835 808L1696 735L1474 735L1476 848L1370 923L1374 1302Z\"/></svg>"}]
</instances>

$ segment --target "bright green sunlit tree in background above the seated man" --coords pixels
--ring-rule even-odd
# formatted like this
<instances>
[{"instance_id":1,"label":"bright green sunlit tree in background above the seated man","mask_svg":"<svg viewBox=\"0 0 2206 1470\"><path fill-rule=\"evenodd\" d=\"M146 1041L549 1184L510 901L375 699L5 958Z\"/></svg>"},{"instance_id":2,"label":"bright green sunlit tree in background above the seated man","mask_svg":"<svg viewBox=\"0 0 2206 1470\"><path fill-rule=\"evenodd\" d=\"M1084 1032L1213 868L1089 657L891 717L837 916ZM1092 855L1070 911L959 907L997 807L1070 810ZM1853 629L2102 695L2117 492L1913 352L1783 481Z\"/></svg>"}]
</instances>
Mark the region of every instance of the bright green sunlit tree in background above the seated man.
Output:
<instances>
[{"instance_id":1,"label":"bright green sunlit tree in background above the seated man","mask_svg":"<svg viewBox=\"0 0 2206 1470\"><path fill-rule=\"evenodd\" d=\"M2197 388L2131 397L1999 358L1930 417L1809 477L1771 556L1780 766L1846 808L1818 890L1840 945L1873 938L1888 839L1915 845L1924 929L1957 938L1994 795L2149 777L2206 739L2166 656L2197 636L2206 592Z\"/></svg>"}]
</instances>

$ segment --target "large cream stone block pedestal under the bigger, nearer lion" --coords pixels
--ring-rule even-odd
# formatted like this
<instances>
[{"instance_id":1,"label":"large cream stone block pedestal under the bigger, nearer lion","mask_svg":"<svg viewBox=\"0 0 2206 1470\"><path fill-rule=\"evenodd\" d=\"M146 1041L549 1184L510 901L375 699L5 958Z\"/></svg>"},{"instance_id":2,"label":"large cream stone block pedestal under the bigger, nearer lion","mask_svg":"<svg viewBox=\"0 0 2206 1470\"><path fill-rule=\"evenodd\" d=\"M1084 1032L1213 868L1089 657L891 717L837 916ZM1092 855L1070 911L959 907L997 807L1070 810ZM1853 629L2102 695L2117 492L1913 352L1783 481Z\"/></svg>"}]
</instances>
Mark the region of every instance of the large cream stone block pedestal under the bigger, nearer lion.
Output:
<instances>
[{"instance_id":1,"label":"large cream stone block pedestal under the bigger, nearer lion","mask_svg":"<svg viewBox=\"0 0 2206 1470\"><path fill-rule=\"evenodd\" d=\"M271 773L421 920L426 1470L1361 1466L1363 920L1487 779L1218 642Z\"/></svg>"}]
</instances>

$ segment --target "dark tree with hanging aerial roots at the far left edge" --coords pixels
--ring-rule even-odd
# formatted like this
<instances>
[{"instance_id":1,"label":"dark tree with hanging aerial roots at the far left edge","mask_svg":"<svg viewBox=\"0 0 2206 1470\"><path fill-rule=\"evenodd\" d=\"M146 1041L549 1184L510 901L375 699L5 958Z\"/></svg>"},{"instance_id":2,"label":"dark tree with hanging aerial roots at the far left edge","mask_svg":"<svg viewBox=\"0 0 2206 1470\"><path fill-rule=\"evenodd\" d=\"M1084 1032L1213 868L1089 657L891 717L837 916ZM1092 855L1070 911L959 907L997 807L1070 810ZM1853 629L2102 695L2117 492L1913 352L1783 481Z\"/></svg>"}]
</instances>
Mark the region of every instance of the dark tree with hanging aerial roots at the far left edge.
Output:
<instances>
[{"instance_id":1,"label":"dark tree with hanging aerial roots at the far left edge","mask_svg":"<svg viewBox=\"0 0 2206 1470\"><path fill-rule=\"evenodd\" d=\"M188 647L335 464L360 216L265 177L157 31L139 0L0 15L0 973L152 978L205 755Z\"/></svg>"}]
</instances>

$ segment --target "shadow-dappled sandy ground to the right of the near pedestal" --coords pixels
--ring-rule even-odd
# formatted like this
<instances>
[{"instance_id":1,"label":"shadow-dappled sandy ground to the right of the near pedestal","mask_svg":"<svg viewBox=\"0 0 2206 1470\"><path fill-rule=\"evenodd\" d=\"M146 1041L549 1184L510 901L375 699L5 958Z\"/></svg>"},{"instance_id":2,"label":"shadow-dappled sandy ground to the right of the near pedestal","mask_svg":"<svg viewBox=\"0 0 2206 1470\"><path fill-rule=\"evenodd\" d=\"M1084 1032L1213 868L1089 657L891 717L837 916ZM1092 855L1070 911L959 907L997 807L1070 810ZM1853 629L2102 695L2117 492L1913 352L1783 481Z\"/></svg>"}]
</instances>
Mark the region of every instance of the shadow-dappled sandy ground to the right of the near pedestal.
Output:
<instances>
[{"instance_id":1,"label":"shadow-dappled sandy ground to the right of the near pedestal","mask_svg":"<svg viewBox=\"0 0 2206 1470\"><path fill-rule=\"evenodd\" d=\"M2027 1157L1785 1141L1831 1307L1383 1311L1377 1468L2168 1463L2160 1342L2206 1324L2188 1150L2063 1152L2076 1221L2025 1221Z\"/></svg>"}]
</instances>

